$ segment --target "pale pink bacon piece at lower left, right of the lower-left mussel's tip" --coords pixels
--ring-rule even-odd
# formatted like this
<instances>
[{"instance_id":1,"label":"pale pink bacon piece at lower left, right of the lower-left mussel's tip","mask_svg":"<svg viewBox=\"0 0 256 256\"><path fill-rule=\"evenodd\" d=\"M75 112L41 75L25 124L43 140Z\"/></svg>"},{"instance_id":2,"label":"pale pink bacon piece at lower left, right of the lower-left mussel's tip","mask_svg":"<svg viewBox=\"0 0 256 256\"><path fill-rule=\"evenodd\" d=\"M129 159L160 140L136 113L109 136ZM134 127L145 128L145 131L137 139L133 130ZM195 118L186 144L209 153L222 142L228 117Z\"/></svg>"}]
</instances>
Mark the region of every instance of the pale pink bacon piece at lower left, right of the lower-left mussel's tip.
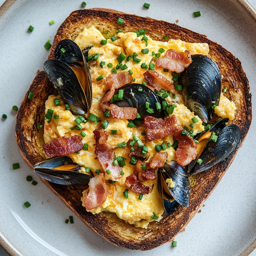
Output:
<instances>
[{"instance_id":1,"label":"pale pink bacon piece at lower left, right of the lower-left mussel's tip","mask_svg":"<svg viewBox=\"0 0 256 256\"><path fill-rule=\"evenodd\" d=\"M94 176L89 182L89 193L84 200L86 210L92 210L101 207L106 201L108 187L105 183L104 173Z\"/></svg>"}]
</instances>

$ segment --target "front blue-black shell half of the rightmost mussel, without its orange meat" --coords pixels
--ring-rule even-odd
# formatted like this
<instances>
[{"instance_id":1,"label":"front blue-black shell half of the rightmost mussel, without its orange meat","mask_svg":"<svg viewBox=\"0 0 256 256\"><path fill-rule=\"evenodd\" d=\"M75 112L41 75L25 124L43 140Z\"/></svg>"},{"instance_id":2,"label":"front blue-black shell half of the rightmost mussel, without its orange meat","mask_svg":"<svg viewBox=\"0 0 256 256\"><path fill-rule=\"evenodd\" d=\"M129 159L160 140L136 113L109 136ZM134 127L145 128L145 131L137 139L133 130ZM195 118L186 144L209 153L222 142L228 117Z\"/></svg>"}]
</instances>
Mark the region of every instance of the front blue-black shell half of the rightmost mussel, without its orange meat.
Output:
<instances>
[{"instance_id":1,"label":"front blue-black shell half of the rightmost mussel, without its orange meat","mask_svg":"<svg viewBox=\"0 0 256 256\"><path fill-rule=\"evenodd\" d=\"M191 175L203 172L222 162L241 144L241 130L235 124L227 125L216 136L218 136L216 142L211 139L208 140L204 150L198 157L202 162L201 164L195 163L190 171Z\"/></svg>"}]
</instances>

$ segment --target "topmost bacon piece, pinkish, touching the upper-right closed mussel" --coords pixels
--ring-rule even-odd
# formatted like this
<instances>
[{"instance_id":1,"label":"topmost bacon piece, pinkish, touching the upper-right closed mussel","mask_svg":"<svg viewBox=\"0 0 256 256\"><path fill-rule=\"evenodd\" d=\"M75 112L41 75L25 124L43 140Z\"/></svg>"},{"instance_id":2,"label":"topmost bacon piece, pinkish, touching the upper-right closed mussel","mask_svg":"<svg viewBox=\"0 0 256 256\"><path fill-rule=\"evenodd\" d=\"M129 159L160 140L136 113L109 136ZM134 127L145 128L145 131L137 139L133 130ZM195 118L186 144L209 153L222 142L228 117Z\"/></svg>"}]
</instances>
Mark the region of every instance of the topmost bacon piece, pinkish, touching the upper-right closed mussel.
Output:
<instances>
[{"instance_id":1,"label":"topmost bacon piece, pinkish, touching the upper-right closed mussel","mask_svg":"<svg viewBox=\"0 0 256 256\"><path fill-rule=\"evenodd\" d=\"M169 71L180 73L187 68L192 62L191 55L188 50L185 52L175 51L173 49L167 50L165 56L155 60L157 68L166 68Z\"/></svg>"}]
</instances>

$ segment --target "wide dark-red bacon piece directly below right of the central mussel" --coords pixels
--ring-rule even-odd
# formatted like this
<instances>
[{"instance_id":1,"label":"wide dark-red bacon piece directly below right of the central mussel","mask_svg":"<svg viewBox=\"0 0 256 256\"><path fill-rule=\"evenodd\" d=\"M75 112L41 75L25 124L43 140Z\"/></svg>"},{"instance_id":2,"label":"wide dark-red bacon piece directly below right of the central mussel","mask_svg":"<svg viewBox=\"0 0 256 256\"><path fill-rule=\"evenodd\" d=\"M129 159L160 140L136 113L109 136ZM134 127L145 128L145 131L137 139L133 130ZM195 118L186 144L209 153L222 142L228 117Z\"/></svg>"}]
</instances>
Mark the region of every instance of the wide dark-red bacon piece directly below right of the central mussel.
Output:
<instances>
[{"instance_id":1,"label":"wide dark-red bacon piece directly below right of the central mussel","mask_svg":"<svg viewBox=\"0 0 256 256\"><path fill-rule=\"evenodd\" d=\"M179 131L175 115L168 117L166 120L146 116L144 118L144 125L148 141L161 139L170 133Z\"/></svg>"}]
</instances>

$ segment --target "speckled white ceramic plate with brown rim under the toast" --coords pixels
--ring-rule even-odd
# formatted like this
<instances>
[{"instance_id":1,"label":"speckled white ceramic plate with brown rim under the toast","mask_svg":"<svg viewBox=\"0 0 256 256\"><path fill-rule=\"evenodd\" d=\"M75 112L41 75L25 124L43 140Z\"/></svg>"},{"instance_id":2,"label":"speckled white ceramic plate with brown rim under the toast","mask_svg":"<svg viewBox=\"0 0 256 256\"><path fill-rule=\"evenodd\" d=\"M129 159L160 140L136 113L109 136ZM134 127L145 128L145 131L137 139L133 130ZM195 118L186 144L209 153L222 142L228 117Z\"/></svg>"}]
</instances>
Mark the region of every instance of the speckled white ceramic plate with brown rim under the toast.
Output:
<instances>
[{"instance_id":1,"label":"speckled white ceramic plate with brown rim under the toast","mask_svg":"<svg viewBox=\"0 0 256 256\"><path fill-rule=\"evenodd\" d=\"M148 10L142 8L144 0L94 0L87 1L86 8L112 8L168 22L179 19L178 25L217 41L241 60L250 82L254 111L256 15L251 7L242 0L146 1L151 4ZM176 237L176 248L166 243L151 251L131 252L110 244L74 216L25 164L16 145L16 113L12 106L19 106L37 70L42 70L49 53L45 42L52 42L58 26L78 8L80 0L7 0L0 9L0 109L1 115L8 116L0 122L0 245L10 255L24 256L248 255L256 240L255 119L202 212ZM201 17L194 18L192 13L198 10ZM50 26L53 19L55 24ZM29 25L35 27L32 33L27 32ZM20 163L20 169L12 170L13 163ZM39 182L37 186L26 181L27 175ZM31 207L25 208L25 201ZM74 216L74 224L65 224L70 215Z\"/></svg>"}]
</instances>

